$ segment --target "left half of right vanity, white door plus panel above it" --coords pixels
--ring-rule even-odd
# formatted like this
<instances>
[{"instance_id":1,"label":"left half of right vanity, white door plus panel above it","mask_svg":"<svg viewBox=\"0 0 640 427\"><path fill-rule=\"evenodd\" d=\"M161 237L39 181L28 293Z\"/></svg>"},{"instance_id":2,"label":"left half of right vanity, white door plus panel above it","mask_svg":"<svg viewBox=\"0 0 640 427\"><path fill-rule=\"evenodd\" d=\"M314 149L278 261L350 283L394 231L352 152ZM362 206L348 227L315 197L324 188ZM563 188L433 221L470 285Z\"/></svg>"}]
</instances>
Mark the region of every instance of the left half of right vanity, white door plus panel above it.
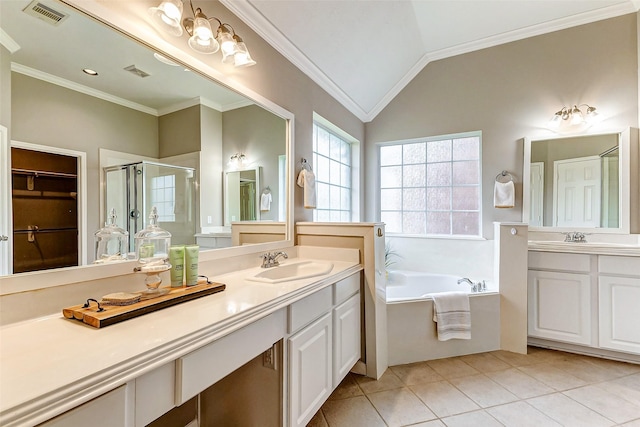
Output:
<instances>
[{"instance_id":1,"label":"left half of right vanity, white door plus panel above it","mask_svg":"<svg viewBox=\"0 0 640 427\"><path fill-rule=\"evenodd\" d=\"M529 253L528 334L592 345L590 256Z\"/></svg>"}]
</instances>

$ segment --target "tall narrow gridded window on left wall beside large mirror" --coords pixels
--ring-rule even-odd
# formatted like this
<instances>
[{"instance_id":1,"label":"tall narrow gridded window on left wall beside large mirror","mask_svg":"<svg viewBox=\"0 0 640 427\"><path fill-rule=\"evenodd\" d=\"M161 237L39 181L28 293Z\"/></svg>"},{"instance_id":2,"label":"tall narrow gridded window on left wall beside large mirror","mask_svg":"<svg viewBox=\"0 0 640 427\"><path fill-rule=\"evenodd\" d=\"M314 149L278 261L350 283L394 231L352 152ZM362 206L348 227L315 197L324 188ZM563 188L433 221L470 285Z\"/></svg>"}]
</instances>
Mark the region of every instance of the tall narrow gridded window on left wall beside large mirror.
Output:
<instances>
[{"instance_id":1,"label":"tall narrow gridded window on left wall beside large mirror","mask_svg":"<svg viewBox=\"0 0 640 427\"><path fill-rule=\"evenodd\" d=\"M346 135L319 116L313 123L313 165L316 175L314 221L351 221L352 146Z\"/></svg>"}]
</instances>

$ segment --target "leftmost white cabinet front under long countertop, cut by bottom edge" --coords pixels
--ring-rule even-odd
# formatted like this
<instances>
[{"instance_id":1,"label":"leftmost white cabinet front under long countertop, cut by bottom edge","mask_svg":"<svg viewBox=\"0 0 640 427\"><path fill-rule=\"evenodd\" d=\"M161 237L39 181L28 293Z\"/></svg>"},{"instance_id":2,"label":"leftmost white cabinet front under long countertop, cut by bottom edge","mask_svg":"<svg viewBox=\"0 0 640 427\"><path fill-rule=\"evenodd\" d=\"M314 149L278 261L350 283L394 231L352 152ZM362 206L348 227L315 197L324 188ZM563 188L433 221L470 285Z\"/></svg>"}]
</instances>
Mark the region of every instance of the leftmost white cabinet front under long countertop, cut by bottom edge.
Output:
<instances>
[{"instance_id":1,"label":"leftmost white cabinet front under long countertop, cut by bottom edge","mask_svg":"<svg viewBox=\"0 0 640 427\"><path fill-rule=\"evenodd\" d=\"M126 385L96 397L40 427L113 427L126 425Z\"/></svg>"}]
</instances>

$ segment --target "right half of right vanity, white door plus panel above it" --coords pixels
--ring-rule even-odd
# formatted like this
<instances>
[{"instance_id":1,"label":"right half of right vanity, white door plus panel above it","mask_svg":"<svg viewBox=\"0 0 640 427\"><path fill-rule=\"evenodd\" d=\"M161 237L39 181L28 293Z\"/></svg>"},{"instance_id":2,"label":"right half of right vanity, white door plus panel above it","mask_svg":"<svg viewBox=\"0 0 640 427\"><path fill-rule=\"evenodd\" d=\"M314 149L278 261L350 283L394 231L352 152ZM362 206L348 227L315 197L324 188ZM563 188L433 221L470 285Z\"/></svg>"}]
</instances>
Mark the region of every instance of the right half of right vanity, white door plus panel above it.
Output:
<instances>
[{"instance_id":1,"label":"right half of right vanity, white door plus panel above it","mask_svg":"<svg viewBox=\"0 0 640 427\"><path fill-rule=\"evenodd\" d=\"M640 258L598 262L600 347L640 354Z\"/></svg>"}]
</instances>

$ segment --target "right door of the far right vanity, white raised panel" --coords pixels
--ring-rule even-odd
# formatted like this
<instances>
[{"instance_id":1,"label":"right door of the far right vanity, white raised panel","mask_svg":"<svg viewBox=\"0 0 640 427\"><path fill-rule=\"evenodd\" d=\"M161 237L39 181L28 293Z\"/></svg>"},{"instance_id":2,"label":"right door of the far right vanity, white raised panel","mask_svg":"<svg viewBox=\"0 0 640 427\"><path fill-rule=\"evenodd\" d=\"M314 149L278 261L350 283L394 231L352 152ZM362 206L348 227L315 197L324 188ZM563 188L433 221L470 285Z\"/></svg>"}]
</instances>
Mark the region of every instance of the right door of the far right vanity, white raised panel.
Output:
<instances>
[{"instance_id":1,"label":"right door of the far right vanity, white raised panel","mask_svg":"<svg viewBox=\"0 0 640 427\"><path fill-rule=\"evenodd\" d=\"M600 347L640 354L640 278L600 276Z\"/></svg>"}]
</instances>

